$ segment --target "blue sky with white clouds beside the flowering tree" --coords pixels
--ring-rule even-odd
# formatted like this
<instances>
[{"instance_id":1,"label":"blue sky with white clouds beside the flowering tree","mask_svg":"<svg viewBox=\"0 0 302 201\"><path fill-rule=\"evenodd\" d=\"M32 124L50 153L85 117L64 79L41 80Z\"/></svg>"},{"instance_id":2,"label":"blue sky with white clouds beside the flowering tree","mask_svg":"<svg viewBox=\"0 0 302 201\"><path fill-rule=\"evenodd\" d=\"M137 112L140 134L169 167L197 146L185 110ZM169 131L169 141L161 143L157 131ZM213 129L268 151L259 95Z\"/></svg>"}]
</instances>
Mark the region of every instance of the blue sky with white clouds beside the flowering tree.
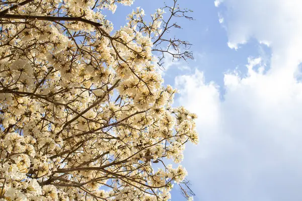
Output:
<instances>
[{"instance_id":1,"label":"blue sky with white clouds beside the flowering tree","mask_svg":"<svg viewBox=\"0 0 302 201\"><path fill-rule=\"evenodd\" d=\"M162 1L136 1L152 13ZM166 1L169 4L169 0ZM179 0L195 21L172 32L195 59L166 63L175 105L197 113L183 165L194 200L302 200L302 1ZM121 26L131 9L108 16ZM182 200L174 190L173 200Z\"/></svg>"}]
</instances>

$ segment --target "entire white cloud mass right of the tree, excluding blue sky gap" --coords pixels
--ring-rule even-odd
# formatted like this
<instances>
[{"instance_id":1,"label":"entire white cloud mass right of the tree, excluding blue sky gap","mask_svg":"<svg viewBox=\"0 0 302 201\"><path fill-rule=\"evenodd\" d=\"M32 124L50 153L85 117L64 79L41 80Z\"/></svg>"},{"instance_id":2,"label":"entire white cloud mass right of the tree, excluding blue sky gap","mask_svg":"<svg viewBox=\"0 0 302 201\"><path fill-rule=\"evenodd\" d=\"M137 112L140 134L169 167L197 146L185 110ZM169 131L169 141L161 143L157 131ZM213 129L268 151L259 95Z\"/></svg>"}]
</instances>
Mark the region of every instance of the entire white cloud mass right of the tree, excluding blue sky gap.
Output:
<instances>
[{"instance_id":1,"label":"entire white cloud mass right of the tree, excluding blue sky gap","mask_svg":"<svg viewBox=\"0 0 302 201\"><path fill-rule=\"evenodd\" d=\"M204 201L302 200L302 1L221 2L228 46L254 38L272 55L249 58L245 76L226 73L223 100L198 70L175 79L178 104L199 116L200 144L184 161L193 188Z\"/></svg>"}]
</instances>

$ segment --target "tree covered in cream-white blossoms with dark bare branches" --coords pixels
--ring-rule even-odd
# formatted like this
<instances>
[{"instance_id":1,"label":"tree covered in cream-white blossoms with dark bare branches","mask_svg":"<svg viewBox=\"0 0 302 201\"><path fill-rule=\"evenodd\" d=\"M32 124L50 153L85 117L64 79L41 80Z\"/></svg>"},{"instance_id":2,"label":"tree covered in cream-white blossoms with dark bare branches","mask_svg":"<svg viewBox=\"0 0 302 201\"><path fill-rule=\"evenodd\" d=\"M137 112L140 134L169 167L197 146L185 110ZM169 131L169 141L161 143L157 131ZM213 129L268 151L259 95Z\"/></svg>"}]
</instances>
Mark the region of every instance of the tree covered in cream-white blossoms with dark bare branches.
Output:
<instances>
[{"instance_id":1,"label":"tree covered in cream-white blossoms with dark bare branches","mask_svg":"<svg viewBox=\"0 0 302 201\"><path fill-rule=\"evenodd\" d=\"M189 11L136 9L112 33L101 9L132 1L1 1L0 200L168 200L184 180L165 162L198 142L196 115L156 69L192 57L166 34Z\"/></svg>"}]
</instances>

